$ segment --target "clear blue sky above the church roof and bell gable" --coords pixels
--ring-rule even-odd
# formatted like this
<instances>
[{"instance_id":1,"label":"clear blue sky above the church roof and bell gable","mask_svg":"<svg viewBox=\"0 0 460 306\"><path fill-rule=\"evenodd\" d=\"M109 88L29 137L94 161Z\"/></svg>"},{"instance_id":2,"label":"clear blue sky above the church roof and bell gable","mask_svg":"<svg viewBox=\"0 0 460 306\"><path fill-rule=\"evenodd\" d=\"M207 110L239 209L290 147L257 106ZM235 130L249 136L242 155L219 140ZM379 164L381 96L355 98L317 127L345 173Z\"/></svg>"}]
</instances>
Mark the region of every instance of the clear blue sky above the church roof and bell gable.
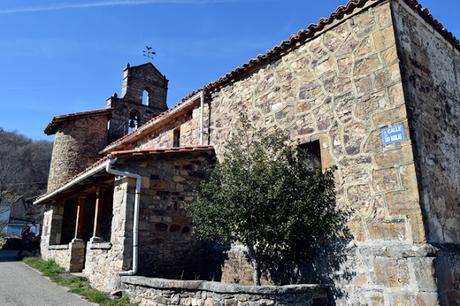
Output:
<instances>
[{"instance_id":1,"label":"clear blue sky above the church roof and bell gable","mask_svg":"<svg viewBox=\"0 0 460 306\"><path fill-rule=\"evenodd\" d=\"M460 36L458 0L422 0ZM170 80L168 105L346 0L2 0L0 127L33 139L54 115L103 108L126 63Z\"/></svg>"}]
</instances>

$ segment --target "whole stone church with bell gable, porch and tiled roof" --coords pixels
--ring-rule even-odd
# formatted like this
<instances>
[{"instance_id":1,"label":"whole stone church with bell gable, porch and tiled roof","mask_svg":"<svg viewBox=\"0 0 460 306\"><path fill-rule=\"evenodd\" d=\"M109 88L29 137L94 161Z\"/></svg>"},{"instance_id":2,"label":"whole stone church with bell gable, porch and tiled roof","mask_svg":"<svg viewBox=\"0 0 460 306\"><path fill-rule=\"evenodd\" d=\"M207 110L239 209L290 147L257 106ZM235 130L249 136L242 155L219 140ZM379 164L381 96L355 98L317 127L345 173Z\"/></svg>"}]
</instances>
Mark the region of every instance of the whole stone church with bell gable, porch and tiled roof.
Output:
<instances>
[{"instance_id":1,"label":"whole stone church with bell gable, porch and tiled roof","mask_svg":"<svg viewBox=\"0 0 460 306\"><path fill-rule=\"evenodd\" d=\"M338 304L460 305L459 74L459 41L415 0L350 1L170 109L166 77L128 65L104 109L45 129L42 256L103 290L208 277L183 204L243 111L338 168L337 202L355 209ZM250 274L240 255L223 282Z\"/></svg>"}]
</instances>

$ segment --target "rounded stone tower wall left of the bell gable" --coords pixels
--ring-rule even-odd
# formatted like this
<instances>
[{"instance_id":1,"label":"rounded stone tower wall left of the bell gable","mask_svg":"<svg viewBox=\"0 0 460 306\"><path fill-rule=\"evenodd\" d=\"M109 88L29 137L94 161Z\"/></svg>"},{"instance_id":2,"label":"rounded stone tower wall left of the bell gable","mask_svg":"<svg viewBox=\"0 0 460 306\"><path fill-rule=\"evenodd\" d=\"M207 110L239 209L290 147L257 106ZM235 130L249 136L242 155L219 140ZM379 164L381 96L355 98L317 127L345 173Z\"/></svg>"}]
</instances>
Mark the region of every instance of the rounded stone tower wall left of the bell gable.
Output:
<instances>
[{"instance_id":1,"label":"rounded stone tower wall left of the bell gable","mask_svg":"<svg viewBox=\"0 0 460 306\"><path fill-rule=\"evenodd\" d=\"M63 122L54 139L48 192L99 159L98 153L106 145L106 116Z\"/></svg>"}]
</instances>

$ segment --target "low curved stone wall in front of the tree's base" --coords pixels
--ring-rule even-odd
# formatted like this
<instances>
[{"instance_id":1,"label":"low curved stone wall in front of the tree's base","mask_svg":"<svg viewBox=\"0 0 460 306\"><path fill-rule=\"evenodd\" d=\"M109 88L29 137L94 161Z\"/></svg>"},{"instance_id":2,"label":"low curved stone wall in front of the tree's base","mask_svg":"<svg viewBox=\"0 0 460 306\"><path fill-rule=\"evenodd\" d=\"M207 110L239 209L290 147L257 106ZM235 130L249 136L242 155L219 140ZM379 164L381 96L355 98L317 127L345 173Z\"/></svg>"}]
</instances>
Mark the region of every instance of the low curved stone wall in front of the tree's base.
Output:
<instances>
[{"instance_id":1,"label":"low curved stone wall in front of the tree's base","mask_svg":"<svg viewBox=\"0 0 460 306\"><path fill-rule=\"evenodd\" d=\"M122 288L140 305L327 305L320 285L241 286L208 281L182 281L126 276Z\"/></svg>"}]
</instances>

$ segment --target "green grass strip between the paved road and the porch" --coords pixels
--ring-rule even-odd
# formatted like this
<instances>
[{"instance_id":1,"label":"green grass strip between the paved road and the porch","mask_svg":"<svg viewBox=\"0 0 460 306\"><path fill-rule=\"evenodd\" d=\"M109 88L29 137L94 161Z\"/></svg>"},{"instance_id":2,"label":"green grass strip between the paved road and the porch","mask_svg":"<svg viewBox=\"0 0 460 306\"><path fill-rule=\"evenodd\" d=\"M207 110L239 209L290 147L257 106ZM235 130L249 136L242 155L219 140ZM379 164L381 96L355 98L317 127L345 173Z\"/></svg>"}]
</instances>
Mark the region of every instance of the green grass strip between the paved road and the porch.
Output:
<instances>
[{"instance_id":1,"label":"green grass strip between the paved road and the porch","mask_svg":"<svg viewBox=\"0 0 460 306\"><path fill-rule=\"evenodd\" d=\"M42 272L56 284L69 288L70 292L81 295L89 302L104 306L135 305L129 302L127 296L119 300L112 300L108 293L92 288L85 277L73 276L69 273L65 273L64 269L52 260L45 261L38 257L26 257L23 261L32 268Z\"/></svg>"}]
</instances>

